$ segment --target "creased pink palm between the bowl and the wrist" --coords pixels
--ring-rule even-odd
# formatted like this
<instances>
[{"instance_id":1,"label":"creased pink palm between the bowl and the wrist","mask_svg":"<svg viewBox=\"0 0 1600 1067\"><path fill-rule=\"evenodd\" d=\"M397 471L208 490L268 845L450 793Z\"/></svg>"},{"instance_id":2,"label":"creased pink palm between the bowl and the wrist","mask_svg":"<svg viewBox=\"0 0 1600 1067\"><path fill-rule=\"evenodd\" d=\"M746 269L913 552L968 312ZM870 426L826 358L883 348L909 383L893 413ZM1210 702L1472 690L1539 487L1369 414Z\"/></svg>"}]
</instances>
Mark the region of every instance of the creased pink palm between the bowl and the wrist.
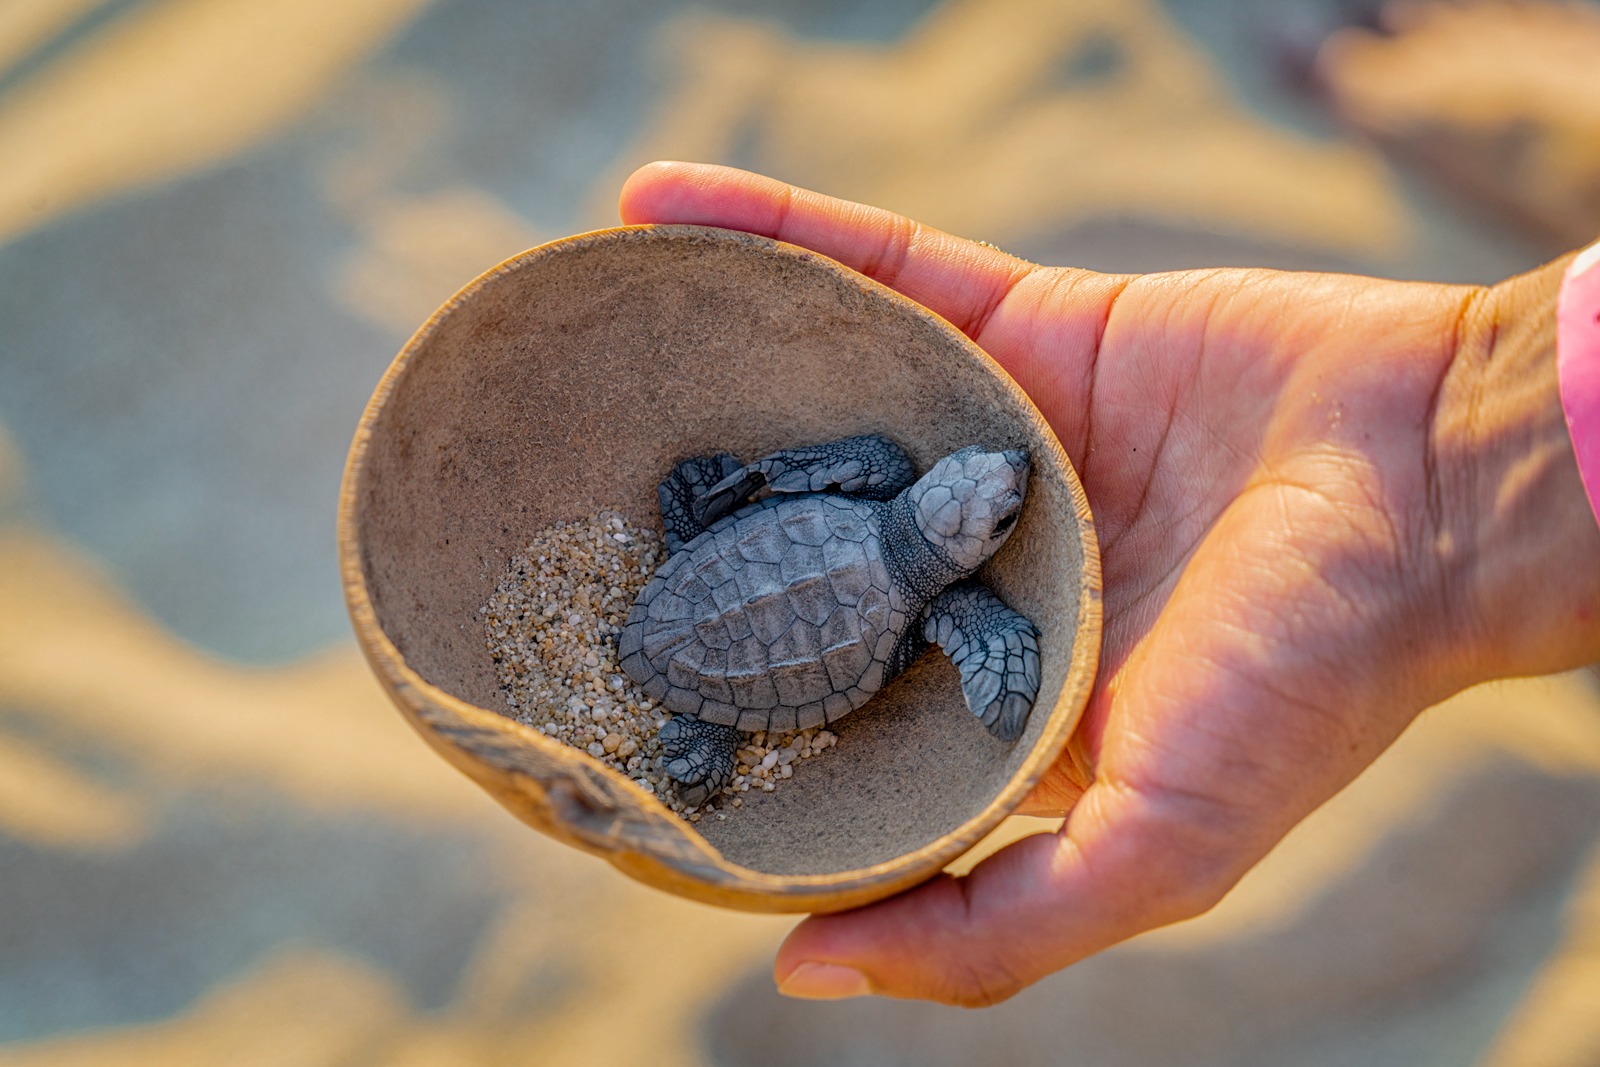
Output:
<instances>
[{"instance_id":1,"label":"creased pink palm between the bowl and the wrist","mask_svg":"<svg viewBox=\"0 0 1600 1067\"><path fill-rule=\"evenodd\" d=\"M979 338L1042 400L1094 507L1106 648L1080 763L1118 800L1106 813L1117 833L1138 817L1152 835L1184 888L1178 907L1232 885L1432 696L1429 680L1382 669L1387 648L1349 646L1422 637L1434 595L1426 413L1450 354L1422 323L1362 328L1389 322L1350 314L1387 288L1166 275L1112 290L1098 346ZM1021 310L1016 336L1050 336L1085 312L1080 294L1050 293L1056 307ZM1448 301L1438 310L1448 317ZM1435 358L1414 360L1408 379L1381 358L1430 346ZM1414 432L1397 442L1373 432L1379 421ZM1395 483L1394 470L1411 477ZM1371 670L1352 675L1349 662ZM1085 769L1058 765L1034 809L1072 808ZM1080 832L1102 811L1090 801Z\"/></svg>"}]
</instances>

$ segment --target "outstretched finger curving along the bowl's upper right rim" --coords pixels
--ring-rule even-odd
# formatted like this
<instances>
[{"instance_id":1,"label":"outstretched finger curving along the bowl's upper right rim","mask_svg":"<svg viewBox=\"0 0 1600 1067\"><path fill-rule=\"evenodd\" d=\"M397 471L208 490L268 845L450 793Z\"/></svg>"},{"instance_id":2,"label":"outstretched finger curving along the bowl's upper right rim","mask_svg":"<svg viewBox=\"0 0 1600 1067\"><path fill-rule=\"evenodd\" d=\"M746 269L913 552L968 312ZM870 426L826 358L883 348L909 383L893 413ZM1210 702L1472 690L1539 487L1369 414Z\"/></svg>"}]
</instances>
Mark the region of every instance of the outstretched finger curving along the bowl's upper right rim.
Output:
<instances>
[{"instance_id":1,"label":"outstretched finger curving along the bowl's upper right rim","mask_svg":"<svg viewBox=\"0 0 1600 1067\"><path fill-rule=\"evenodd\" d=\"M651 163L622 186L626 222L693 222L800 245L931 309L1034 398L1075 461L1094 355L1126 277L1038 267L891 211L704 163Z\"/></svg>"}]
</instances>

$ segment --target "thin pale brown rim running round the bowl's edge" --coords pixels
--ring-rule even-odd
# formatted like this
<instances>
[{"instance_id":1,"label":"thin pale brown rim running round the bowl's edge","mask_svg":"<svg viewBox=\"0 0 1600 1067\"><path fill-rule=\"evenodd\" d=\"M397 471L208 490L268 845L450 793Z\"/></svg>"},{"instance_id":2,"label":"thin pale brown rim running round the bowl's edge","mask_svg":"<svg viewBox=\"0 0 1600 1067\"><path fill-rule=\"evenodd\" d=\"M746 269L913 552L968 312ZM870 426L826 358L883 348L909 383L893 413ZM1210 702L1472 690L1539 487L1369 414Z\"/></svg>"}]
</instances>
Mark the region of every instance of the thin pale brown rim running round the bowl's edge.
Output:
<instances>
[{"instance_id":1,"label":"thin pale brown rim running round the bowl's edge","mask_svg":"<svg viewBox=\"0 0 1600 1067\"><path fill-rule=\"evenodd\" d=\"M1061 691L1056 696L1054 707L1050 710L1050 721L1018 769L976 814L941 833L938 838L893 859L867 867L806 875L774 875L734 864L723 857L693 824L672 814L653 793L646 793L627 776L602 765L586 752L547 737L494 710L464 701L422 678L405 661L405 656L378 622L362 565L358 499L374 427L413 358L426 347L429 338L446 317L470 301L485 285L506 274L523 270L544 259L602 242L656 238L736 243L768 254L808 261L870 298L886 299L891 304L901 306L902 310L933 326L954 349L963 352L966 358L979 360L986 373L998 379L1000 386L1011 394L1011 400L1022 406L1024 411L1032 413L1032 421L1042 430L1045 445L1056 451L1056 459L1069 474L1067 488L1077 517L1077 536L1083 550L1083 568L1078 584L1077 635L1072 645L1072 662L1067 664ZM744 910L840 910L890 896L936 875L1000 825L1021 805L1034 785L1038 784L1045 771L1056 760L1062 758L1069 737L1083 718L1099 664L1102 624L1101 561L1093 514L1090 512L1088 498L1077 469L1032 398L971 338L910 298L811 250L722 227L686 224L616 226L574 234L517 253L458 290L402 346L362 411L339 486L338 549L346 608L350 614L357 643L389 697L430 747L483 785L512 814L536 829L584 851L598 854L626 873L656 888L702 902ZM558 768L571 774L573 781L552 784L552 781L534 779L528 774L526 766L494 766L485 760L483 752L469 750L459 741L459 737L469 734L483 739L485 733L498 736L499 742L531 747L531 752L528 752L530 757L546 757L541 761L542 769L550 771L552 768ZM562 774L557 774L557 777L562 777ZM603 808L605 800L597 801L595 795L592 795L595 792L611 800L629 797L640 809L637 813L624 813L627 816L638 816L638 825L632 827L634 837L629 837L627 829L619 830L614 825L610 829L603 827L598 832L592 827L573 825L570 817L573 811L568 803L573 797L557 797L557 803L552 808L552 797L541 795L552 790L560 792L562 789L571 790L576 795L579 808L586 803L600 803ZM565 809L563 805L566 805ZM602 811L602 814L606 813ZM610 814L614 817L618 813L611 811ZM675 845L675 848L646 848L645 854L634 854L626 849L619 851L622 841L632 841L637 848L638 833L645 833L645 840L650 841L648 835L659 832L666 832L667 843Z\"/></svg>"}]
</instances>

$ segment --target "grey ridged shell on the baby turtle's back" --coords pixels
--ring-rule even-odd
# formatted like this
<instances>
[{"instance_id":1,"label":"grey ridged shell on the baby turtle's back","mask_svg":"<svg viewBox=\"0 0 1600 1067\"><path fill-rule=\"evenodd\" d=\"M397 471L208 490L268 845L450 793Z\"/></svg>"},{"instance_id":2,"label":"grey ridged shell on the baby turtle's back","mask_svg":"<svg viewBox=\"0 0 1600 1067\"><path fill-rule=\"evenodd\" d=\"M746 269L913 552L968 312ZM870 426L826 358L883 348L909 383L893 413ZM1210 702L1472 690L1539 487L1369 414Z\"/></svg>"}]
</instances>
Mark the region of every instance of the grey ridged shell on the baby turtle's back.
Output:
<instances>
[{"instance_id":1,"label":"grey ridged shell on the baby turtle's back","mask_svg":"<svg viewBox=\"0 0 1600 1067\"><path fill-rule=\"evenodd\" d=\"M880 509L773 496L717 522L638 595L622 669L669 710L747 731L861 707L912 614L883 563Z\"/></svg>"}]
</instances>

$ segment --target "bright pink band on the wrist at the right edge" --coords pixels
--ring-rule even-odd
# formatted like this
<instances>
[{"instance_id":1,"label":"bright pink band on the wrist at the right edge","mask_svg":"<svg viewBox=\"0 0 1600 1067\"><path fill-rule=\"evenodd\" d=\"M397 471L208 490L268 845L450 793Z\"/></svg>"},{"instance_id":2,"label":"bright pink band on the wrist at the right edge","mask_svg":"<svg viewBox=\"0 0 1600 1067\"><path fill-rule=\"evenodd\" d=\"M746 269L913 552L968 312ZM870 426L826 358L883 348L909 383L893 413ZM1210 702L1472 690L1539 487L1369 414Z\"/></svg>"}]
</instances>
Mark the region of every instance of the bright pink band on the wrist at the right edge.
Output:
<instances>
[{"instance_id":1,"label":"bright pink band on the wrist at the right edge","mask_svg":"<svg viewBox=\"0 0 1600 1067\"><path fill-rule=\"evenodd\" d=\"M1589 493L1589 507L1600 520L1600 243L1578 253L1562 282L1555 368L1562 411L1578 453L1578 474Z\"/></svg>"}]
</instances>

